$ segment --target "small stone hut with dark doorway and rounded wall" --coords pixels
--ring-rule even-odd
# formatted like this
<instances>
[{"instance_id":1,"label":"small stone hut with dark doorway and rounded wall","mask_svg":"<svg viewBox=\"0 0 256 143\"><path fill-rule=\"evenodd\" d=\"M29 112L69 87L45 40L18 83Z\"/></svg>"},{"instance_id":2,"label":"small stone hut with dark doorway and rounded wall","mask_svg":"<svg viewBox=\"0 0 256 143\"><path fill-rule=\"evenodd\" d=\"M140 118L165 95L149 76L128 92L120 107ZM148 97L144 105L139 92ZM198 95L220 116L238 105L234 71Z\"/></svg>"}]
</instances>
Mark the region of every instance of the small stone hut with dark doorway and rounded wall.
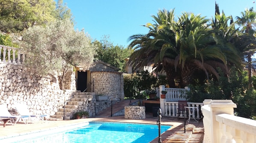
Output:
<instances>
[{"instance_id":1,"label":"small stone hut with dark doorway and rounded wall","mask_svg":"<svg viewBox=\"0 0 256 143\"><path fill-rule=\"evenodd\" d=\"M115 66L98 60L76 70L77 90L107 95L108 100L124 99L123 74Z\"/></svg>"}]
</instances>

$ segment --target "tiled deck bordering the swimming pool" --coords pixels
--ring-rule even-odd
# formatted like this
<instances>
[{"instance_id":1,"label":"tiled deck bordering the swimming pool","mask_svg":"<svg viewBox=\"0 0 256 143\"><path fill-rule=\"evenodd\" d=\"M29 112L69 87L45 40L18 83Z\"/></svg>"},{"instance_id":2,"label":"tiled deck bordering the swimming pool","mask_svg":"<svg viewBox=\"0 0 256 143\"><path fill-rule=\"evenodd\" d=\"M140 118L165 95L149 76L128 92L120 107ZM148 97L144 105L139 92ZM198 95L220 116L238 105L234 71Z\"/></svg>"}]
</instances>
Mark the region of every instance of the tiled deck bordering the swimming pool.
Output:
<instances>
[{"instance_id":1,"label":"tiled deck bordering the swimming pool","mask_svg":"<svg viewBox=\"0 0 256 143\"><path fill-rule=\"evenodd\" d=\"M79 124L79 123L84 123L88 121L156 124L157 120L158 120L157 117L152 117L152 114L148 114L146 115L146 119L144 120L131 120L131 119L125 119L124 116L117 116L117 117L87 118L87 119L79 119L79 120L45 121L43 123L29 123L29 124L17 123L14 126L10 123L6 123L6 127L3 127L3 123L0 123L0 139L6 138L6 137L18 136L21 134L30 134L33 132L56 129L59 127L70 126L72 124ZM169 130L167 130L161 135L163 143L183 143L182 140L185 140L185 137L187 136L187 134L191 134L189 130L191 125L192 126L194 125L196 127L196 130L200 130L200 131L192 135L189 139L191 141L188 140L188 143L202 143L202 137L203 137L202 122L199 122L199 123L190 122L186 127L188 128L187 133L184 133L183 121L184 120L178 121L176 118L162 117L162 120L161 120L162 125L172 126ZM158 136L158 133L156 134ZM175 140L177 139L177 140L175 141L174 139ZM155 140L152 140L152 142L150 143L158 143L158 137L155 138Z\"/></svg>"}]
</instances>

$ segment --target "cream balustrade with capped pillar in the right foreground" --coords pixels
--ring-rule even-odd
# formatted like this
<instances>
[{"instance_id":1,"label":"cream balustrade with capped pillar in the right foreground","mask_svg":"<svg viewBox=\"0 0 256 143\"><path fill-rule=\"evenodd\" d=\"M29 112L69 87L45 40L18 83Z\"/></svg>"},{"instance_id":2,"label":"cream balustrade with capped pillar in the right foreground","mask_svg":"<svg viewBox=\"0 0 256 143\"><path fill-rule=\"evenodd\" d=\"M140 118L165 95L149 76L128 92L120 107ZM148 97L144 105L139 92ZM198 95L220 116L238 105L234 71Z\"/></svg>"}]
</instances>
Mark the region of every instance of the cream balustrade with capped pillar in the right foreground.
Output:
<instances>
[{"instance_id":1,"label":"cream balustrade with capped pillar in the right foreground","mask_svg":"<svg viewBox=\"0 0 256 143\"><path fill-rule=\"evenodd\" d=\"M208 101L201 108L204 143L256 143L256 120L235 116L232 100Z\"/></svg>"}]
</instances>

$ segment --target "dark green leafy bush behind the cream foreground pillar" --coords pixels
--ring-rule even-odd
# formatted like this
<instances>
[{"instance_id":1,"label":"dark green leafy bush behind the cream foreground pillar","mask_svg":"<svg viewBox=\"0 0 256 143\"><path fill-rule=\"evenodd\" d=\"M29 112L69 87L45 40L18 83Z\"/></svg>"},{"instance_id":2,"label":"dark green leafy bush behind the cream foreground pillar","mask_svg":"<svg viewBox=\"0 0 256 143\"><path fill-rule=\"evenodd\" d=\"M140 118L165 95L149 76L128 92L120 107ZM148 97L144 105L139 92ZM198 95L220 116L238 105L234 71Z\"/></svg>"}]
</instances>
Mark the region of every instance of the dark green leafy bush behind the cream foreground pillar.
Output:
<instances>
[{"instance_id":1,"label":"dark green leafy bush behind the cream foreground pillar","mask_svg":"<svg viewBox=\"0 0 256 143\"><path fill-rule=\"evenodd\" d=\"M230 69L229 77L220 72L218 81L210 80L204 85L190 85L187 100L202 102L205 99L231 99L236 105L235 115L252 118L256 115L256 91L247 89L247 72L238 73Z\"/></svg>"}]
</instances>

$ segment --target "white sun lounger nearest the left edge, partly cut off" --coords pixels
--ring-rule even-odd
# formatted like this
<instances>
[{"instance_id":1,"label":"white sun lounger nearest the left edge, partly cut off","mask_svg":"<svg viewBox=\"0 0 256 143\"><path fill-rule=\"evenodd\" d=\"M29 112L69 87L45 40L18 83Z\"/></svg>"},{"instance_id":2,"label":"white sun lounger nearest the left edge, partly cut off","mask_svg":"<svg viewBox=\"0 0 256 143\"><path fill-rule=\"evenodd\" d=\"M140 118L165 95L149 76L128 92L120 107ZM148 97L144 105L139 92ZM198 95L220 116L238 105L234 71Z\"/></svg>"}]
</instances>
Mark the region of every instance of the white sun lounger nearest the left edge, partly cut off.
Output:
<instances>
[{"instance_id":1,"label":"white sun lounger nearest the left edge, partly cut off","mask_svg":"<svg viewBox=\"0 0 256 143\"><path fill-rule=\"evenodd\" d=\"M12 115L9 111L6 105L0 105L0 117L3 118L10 118L11 120L8 120L12 123L12 125L16 124L19 120L24 121L25 124L27 124L30 121L30 116L21 116L21 115Z\"/></svg>"}]
</instances>

